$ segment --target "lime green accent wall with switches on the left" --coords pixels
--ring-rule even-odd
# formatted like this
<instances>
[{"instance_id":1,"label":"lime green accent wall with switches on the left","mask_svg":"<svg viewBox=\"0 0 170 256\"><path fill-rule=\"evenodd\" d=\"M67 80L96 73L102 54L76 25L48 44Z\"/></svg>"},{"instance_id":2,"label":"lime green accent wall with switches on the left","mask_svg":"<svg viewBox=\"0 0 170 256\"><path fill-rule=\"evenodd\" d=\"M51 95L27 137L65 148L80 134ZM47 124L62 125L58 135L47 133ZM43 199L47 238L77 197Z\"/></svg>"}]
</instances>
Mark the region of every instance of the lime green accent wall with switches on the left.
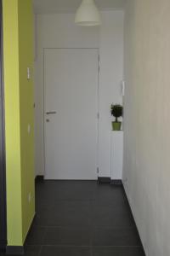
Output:
<instances>
[{"instance_id":1,"label":"lime green accent wall with switches on the left","mask_svg":"<svg viewBox=\"0 0 170 256\"><path fill-rule=\"evenodd\" d=\"M3 55L8 246L22 246L35 214L31 0L3 0Z\"/></svg>"}]
</instances>

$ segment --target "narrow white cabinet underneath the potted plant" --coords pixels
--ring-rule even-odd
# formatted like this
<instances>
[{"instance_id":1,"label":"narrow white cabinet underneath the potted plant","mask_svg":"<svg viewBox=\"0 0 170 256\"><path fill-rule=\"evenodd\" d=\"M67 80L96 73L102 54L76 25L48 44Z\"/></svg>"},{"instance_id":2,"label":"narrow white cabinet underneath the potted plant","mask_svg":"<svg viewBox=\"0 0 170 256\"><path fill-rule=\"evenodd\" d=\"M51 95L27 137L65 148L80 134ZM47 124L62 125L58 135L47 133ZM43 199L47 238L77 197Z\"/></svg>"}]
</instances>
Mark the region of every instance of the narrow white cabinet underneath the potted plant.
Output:
<instances>
[{"instance_id":1,"label":"narrow white cabinet underneath the potted plant","mask_svg":"<svg viewBox=\"0 0 170 256\"><path fill-rule=\"evenodd\" d=\"M122 180L123 131L111 131L111 180Z\"/></svg>"}]
</instances>

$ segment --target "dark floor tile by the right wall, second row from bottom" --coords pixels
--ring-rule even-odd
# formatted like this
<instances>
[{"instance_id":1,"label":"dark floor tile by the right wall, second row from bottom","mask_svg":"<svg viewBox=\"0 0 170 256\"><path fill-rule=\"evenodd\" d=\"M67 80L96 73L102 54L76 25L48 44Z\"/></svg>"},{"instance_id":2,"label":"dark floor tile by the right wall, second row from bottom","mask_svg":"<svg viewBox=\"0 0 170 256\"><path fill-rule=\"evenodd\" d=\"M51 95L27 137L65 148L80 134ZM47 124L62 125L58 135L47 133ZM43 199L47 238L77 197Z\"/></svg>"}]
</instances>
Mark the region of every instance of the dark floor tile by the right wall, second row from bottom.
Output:
<instances>
[{"instance_id":1,"label":"dark floor tile by the right wall, second row from bottom","mask_svg":"<svg viewBox=\"0 0 170 256\"><path fill-rule=\"evenodd\" d=\"M141 246L138 231L134 229L96 228L94 246Z\"/></svg>"}]
</instances>

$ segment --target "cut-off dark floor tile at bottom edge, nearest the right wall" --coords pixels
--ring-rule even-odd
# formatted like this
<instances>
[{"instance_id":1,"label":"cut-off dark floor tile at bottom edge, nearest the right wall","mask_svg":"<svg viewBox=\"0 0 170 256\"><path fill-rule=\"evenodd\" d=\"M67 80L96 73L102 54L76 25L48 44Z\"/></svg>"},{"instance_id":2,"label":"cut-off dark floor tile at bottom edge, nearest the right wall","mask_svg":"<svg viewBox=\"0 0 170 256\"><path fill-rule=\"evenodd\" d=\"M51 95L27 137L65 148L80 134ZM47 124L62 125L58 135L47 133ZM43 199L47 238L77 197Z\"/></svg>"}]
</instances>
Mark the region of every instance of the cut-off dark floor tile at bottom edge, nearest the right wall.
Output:
<instances>
[{"instance_id":1,"label":"cut-off dark floor tile at bottom edge, nearest the right wall","mask_svg":"<svg viewBox=\"0 0 170 256\"><path fill-rule=\"evenodd\" d=\"M95 247L93 256L144 256L142 247Z\"/></svg>"}]
</instances>

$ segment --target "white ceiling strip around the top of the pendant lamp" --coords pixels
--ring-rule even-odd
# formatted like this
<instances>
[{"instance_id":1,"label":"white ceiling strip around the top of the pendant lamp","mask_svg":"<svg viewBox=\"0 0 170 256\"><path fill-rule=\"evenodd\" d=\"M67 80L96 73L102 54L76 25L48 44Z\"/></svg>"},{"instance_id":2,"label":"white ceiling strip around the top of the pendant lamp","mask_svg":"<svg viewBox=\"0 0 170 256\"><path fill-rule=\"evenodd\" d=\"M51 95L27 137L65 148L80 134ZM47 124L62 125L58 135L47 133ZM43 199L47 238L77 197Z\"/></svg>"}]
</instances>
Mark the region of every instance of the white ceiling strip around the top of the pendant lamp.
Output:
<instances>
[{"instance_id":1,"label":"white ceiling strip around the top of the pendant lamp","mask_svg":"<svg viewBox=\"0 0 170 256\"><path fill-rule=\"evenodd\" d=\"M123 9L126 0L95 0L101 10ZM36 14L75 12L82 0L33 0Z\"/></svg>"}]
</instances>

